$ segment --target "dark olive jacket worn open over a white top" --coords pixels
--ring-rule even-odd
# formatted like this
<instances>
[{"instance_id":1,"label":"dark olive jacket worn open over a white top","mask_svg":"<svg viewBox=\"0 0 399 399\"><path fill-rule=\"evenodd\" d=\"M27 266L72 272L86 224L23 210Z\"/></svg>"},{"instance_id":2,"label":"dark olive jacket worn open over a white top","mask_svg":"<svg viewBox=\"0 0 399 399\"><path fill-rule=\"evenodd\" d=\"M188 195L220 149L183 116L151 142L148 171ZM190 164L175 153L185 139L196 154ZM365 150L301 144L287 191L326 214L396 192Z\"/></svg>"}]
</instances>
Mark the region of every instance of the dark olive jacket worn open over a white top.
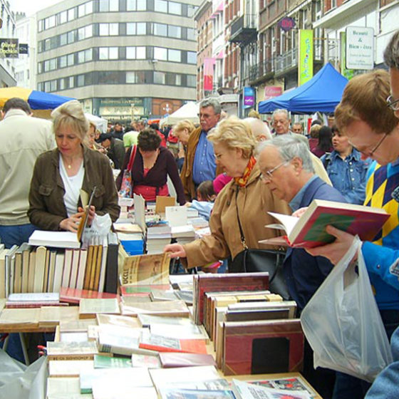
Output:
<instances>
[{"instance_id":1,"label":"dark olive jacket worn open over a white top","mask_svg":"<svg viewBox=\"0 0 399 399\"><path fill-rule=\"evenodd\" d=\"M38 229L58 230L61 220L66 219L63 202L65 188L59 170L58 149L41 154L36 160L29 191L28 217ZM119 217L118 192L108 157L83 146L85 175L81 189L88 195L97 187L92 205L99 215L110 214L113 222ZM78 207L81 207L79 199Z\"/></svg>"}]
</instances>

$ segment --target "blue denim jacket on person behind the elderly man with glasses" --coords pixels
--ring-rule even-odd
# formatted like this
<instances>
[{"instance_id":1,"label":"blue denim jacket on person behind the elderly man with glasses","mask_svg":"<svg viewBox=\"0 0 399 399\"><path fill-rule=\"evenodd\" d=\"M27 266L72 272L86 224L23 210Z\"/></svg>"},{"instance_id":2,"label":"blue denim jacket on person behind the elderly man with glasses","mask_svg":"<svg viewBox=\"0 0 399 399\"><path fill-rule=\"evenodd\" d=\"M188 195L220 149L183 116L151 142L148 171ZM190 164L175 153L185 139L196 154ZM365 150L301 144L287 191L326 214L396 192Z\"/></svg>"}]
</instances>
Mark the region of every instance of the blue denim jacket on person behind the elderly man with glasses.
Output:
<instances>
[{"instance_id":1,"label":"blue denim jacket on person behind the elderly man with glasses","mask_svg":"<svg viewBox=\"0 0 399 399\"><path fill-rule=\"evenodd\" d=\"M366 174L371 160L362 160L361 153L355 148L345 160L336 151L325 154L320 159L333 187L341 192L346 201L363 205L366 197Z\"/></svg>"}]
</instances>

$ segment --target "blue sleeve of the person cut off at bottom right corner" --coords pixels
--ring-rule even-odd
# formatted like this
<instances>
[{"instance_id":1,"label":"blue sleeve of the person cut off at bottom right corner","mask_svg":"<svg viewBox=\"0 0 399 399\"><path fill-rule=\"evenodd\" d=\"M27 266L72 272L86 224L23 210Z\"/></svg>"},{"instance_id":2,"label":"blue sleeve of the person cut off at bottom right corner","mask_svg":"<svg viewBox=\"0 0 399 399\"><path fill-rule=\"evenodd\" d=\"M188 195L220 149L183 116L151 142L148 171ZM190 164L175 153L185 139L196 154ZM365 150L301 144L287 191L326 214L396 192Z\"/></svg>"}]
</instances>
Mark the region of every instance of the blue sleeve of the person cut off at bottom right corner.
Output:
<instances>
[{"instance_id":1,"label":"blue sleeve of the person cut off at bottom right corner","mask_svg":"<svg viewBox=\"0 0 399 399\"><path fill-rule=\"evenodd\" d=\"M366 399L398 399L399 398L399 328L396 328L390 338L393 363L390 363L377 378L368 390Z\"/></svg>"}]
</instances>

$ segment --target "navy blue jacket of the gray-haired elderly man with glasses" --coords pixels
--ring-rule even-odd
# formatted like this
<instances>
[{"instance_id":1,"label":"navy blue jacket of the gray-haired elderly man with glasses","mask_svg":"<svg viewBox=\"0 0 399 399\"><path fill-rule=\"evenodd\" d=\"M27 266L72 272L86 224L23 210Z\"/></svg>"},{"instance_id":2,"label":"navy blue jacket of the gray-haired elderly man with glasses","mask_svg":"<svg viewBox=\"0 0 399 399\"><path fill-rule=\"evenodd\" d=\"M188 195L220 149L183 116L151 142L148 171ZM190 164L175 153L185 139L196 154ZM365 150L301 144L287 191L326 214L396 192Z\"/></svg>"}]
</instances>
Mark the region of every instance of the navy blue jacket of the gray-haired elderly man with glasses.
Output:
<instances>
[{"instance_id":1,"label":"navy blue jacket of the gray-haired elderly man with glasses","mask_svg":"<svg viewBox=\"0 0 399 399\"><path fill-rule=\"evenodd\" d=\"M300 207L307 207L314 199L346 202L343 195L335 188L317 177L304 192ZM304 249L289 248L284 259L284 275L289 294L296 301L299 311L304 309L311 296L333 268L325 257L312 257Z\"/></svg>"}]
</instances>

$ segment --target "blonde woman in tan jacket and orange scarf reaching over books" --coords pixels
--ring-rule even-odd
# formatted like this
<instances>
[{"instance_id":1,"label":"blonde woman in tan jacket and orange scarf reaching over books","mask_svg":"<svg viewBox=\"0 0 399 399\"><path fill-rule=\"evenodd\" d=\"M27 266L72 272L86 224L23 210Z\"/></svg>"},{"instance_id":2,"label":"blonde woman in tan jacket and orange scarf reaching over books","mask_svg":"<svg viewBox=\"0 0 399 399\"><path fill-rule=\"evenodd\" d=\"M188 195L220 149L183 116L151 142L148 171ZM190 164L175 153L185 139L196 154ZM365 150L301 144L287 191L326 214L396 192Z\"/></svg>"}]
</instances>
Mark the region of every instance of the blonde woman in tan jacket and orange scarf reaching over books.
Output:
<instances>
[{"instance_id":1,"label":"blonde woman in tan jacket and orange scarf reaching over books","mask_svg":"<svg viewBox=\"0 0 399 399\"><path fill-rule=\"evenodd\" d=\"M187 261L187 267L234 257L244 250L242 234L250 249L259 249L259 240L276 237L278 231L265 229L274 223L267 211L289 214L286 202L274 197L261 182L254 158L256 141L249 124L234 117L222 120L207 139L213 143L218 166L232 177L217 196L209 227L211 234L190 244L169 244L165 252Z\"/></svg>"}]
</instances>

